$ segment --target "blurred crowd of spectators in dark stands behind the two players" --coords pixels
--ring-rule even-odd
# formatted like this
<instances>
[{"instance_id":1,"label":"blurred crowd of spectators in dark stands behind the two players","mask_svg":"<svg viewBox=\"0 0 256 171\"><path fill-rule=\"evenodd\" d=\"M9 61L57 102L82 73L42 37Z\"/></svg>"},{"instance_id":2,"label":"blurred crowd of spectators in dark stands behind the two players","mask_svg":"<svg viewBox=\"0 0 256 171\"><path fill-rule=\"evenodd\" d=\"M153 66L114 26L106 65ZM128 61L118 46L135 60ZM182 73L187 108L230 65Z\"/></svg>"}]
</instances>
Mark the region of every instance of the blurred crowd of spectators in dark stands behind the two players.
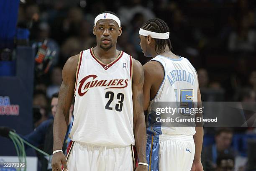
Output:
<instances>
[{"instance_id":1,"label":"blurred crowd of spectators in dark stands behind the two players","mask_svg":"<svg viewBox=\"0 0 256 171\"><path fill-rule=\"evenodd\" d=\"M118 50L145 64L139 45L139 28L151 18L161 18L170 28L173 52L195 66L202 101L256 100L256 3L255 0L24 0L18 12L18 26L28 28L29 41L23 45L39 49L46 46L51 67L46 73L35 71L33 105L41 116L35 128L48 119L51 96L59 91L62 68L70 56L96 46L92 34L94 19L100 12L117 13L123 28ZM36 56L36 54L35 54ZM207 130L205 131L207 133ZM210 146L202 156L205 171L231 171L235 157L241 156L232 140L255 128L219 128L206 135ZM212 140L212 141L211 141ZM212 143L211 143L212 142ZM241 152L241 151L240 151ZM247 156L242 154L242 156ZM253 159L254 160L254 159ZM241 171L248 169L240 160ZM256 161L255 161L256 163ZM255 164L256 165L256 164ZM225 168L225 169L224 169Z\"/></svg>"}]
</instances>

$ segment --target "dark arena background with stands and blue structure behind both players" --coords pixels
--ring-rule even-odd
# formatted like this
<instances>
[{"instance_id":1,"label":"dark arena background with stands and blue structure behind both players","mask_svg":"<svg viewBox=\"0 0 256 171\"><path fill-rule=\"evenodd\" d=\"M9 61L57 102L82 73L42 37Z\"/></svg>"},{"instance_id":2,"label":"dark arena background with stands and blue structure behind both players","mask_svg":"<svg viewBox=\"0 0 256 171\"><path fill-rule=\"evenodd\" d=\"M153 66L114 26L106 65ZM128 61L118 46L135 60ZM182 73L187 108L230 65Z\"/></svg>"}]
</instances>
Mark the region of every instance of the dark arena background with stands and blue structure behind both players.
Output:
<instances>
[{"instance_id":1,"label":"dark arena background with stands and blue structure behind both players","mask_svg":"<svg viewBox=\"0 0 256 171\"><path fill-rule=\"evenodd\" d=\"M23 136L52 117L61 69L70 56L96 45L94 18L105 10L121 20L117 48L141 64L150 59L143 56L138 30L161 18L174 54L198 72L202 101L255 102L255 0L0 0L0 126ZM0 133L0 162L18 162L12 140ZM234 161L230 169L256 170L256 128L205 128L203 160L214 158L216 143L225 148L222 157ZM40 171L38 153L28 149L26 155L27 170ZM228 171L216 158L203 164L205 171Z\"/></svg>"}]
</instances>

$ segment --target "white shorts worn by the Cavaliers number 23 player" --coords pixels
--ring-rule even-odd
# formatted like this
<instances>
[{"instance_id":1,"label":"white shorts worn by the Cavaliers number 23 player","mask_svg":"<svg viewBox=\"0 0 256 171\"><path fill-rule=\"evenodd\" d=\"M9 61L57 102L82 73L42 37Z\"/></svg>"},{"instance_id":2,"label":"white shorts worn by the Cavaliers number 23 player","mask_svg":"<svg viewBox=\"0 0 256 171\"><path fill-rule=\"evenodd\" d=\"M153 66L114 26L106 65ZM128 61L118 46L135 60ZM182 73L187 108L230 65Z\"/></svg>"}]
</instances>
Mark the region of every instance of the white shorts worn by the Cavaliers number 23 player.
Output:
<instances>
[{"instance_id":1,"label":"white shorts worn by the Cavaliers number 23 player","mask_svg":"<svg viewBox=\"0 0 256 171\"><path fill-rule=\"evenodd\" d=\"M73 142L67 167L69 171L134 171L133 148Z\"/></svg>"}]
</instances>

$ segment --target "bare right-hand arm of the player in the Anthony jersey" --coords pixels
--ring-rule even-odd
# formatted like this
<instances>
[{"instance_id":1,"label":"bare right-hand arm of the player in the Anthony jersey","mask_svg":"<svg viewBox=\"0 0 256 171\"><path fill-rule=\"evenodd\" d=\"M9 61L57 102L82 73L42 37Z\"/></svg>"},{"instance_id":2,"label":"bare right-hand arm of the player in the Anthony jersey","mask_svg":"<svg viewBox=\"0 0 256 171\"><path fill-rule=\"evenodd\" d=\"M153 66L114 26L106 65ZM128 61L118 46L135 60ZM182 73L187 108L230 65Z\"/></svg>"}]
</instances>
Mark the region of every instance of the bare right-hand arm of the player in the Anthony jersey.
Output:
<instances>
[{"instance_id":1,"label":"bare right-hand arm of the player in the Anthony jersey","mask_svg":"<svg viewBox=\"0 0 256 171\"><path fill-rule=\"evenodd\" d=\"M201 100L201 93L200 89L198 86L197 90L197 108L202 108L202 100ZM196 117L202 117L202 113L198 112L196 114ZM203 128L203 123L196 123L196 133L193 136L194 137L194 142L195 142L195 156L194 156L194 161L192 164L191 171L203 171L203 166L201 163L201 152L202 152L202 142L203 142L203 137L204 137L204 128Z\"/></svg>"}]
</instances>

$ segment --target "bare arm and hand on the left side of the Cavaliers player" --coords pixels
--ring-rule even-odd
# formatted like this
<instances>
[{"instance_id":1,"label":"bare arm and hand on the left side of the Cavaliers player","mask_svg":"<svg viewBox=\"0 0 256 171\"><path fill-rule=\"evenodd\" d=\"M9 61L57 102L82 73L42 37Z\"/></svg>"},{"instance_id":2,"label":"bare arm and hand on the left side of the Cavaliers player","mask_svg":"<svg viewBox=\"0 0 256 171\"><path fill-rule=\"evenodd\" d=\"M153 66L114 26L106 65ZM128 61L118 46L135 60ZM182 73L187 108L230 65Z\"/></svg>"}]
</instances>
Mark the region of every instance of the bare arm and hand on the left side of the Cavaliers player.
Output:
<instances>
[{"instance_id":1,"label":"bare arm and hand on the left side of the Cavaliers player","mask_svg":"<svg viewBox=\"0 0 256 171\"><path fill-rule=\"evenodd\" d=\"M74 96L74 87L76 81L76 69L78 64L79 54L70 57L62 70L62 83L59 90L59 100L54 117L54 146L53 151L61 150L67 133L69 124L69 108L72 104ZM54 153L51 166L53 171L61 171L61 163L64 170L67 169L67 162L64 153Z\"/></svg>"}]
</instances>

